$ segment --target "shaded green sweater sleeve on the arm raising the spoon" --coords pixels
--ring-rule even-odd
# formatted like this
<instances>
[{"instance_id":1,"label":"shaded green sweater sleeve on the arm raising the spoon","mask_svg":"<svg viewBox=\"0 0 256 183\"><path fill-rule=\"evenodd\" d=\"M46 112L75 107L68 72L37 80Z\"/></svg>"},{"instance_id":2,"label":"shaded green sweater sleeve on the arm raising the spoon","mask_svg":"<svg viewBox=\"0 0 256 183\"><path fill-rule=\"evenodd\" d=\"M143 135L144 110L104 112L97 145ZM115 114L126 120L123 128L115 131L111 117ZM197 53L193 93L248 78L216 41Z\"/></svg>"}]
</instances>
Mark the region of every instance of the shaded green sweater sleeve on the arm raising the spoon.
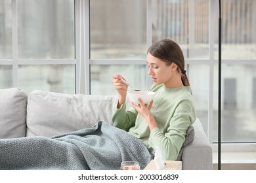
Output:
<instances>
[{"instance_id":1,"label":"shaded green sweater sleeve on the arm raising the spoon","mask_svg":"<svg viewBox=\"0 0 256 183\"><path fill-rule=\"evenodd\" d=\"M130 127L135 125L137 114L138 112L134 108L126 110L126 104L123 103L121 107L114 109L114 114L112 115L113 125L128 131Z\"/></svg>"}]
</instances>

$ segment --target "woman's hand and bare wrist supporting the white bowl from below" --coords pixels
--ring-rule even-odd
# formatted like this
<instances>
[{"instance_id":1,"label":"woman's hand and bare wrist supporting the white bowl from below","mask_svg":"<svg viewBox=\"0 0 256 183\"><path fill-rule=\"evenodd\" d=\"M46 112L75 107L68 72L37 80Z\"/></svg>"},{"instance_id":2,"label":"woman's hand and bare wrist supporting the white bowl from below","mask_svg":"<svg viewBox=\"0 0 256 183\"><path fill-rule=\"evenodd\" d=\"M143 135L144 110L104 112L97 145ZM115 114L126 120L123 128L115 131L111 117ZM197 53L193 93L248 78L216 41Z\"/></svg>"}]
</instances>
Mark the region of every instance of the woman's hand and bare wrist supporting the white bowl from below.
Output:
<instances>
[{"instance_id":1,"label":"woman's hand and bare wrist supporting the white bowl from below","mask_svg":"<svg viewBox=\"0 0 256 183\"><path fill-rule=\"evenodd\" d=\"M135 108L135 110L138 111L138 113L143 116L146 119L146 122L148 123L148 127L150 127L150 130L152 130L154 127L158 127L158 124L156 124L156 120L153 116L153 114L150 112L150 109L153 105L153 101L150 102L150 104L144 104L142 102L142 99L138 99L139 104L135 105L134 103L131 103L131 107Z\"/></svg>"}]
</instances>

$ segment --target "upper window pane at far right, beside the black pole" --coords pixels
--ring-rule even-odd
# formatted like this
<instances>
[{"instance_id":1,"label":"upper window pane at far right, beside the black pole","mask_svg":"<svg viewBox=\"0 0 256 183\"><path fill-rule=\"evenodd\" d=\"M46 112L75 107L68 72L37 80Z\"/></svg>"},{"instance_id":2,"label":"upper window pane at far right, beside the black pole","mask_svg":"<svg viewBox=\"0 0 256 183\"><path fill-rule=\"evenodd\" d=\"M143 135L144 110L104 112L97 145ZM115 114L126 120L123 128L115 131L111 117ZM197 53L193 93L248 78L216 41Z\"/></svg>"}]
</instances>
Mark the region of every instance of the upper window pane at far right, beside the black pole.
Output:
<instances>
[{"instance_id":1,"label":"upper window pane at far right, beside the black pole","mask_svg":"<svg viewBox=\"0 0 256 183\"><path fill-rule=\"evenodd\" d=\"M253 0L222 1L223 59L256 59L255 8L256 1ZM218 27L218 22L215 23L215 27ZM215 32L218 33L217 28ZM218 41L218 35L216 35L215 42ZM217 59L218 56L218 49L215 49L215 58Z\"/></svg>"}]
</instances>

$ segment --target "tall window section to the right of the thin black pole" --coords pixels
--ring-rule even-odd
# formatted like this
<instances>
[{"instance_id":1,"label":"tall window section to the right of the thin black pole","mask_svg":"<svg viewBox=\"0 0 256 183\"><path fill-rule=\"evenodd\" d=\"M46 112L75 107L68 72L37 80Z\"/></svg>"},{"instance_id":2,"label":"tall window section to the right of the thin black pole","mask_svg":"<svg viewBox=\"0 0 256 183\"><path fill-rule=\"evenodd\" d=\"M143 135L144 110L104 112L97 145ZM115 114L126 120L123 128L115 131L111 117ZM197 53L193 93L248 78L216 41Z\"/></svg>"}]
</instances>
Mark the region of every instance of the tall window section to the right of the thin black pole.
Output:
<instances>
[{"instance_id":1,"label":"tall window section to the right of the thin black pole","mask_svg":"<svg viewBox=\"0 0 256 183\"><path fill-rule=\"evenodd\" d=\"M256 77L256 1L222 2L223 142L256 142L255 100L253 101ZM217 39L215 43L217 44ZM215 59L217 57L215 52Z\"/></svg>"}]
</instances>

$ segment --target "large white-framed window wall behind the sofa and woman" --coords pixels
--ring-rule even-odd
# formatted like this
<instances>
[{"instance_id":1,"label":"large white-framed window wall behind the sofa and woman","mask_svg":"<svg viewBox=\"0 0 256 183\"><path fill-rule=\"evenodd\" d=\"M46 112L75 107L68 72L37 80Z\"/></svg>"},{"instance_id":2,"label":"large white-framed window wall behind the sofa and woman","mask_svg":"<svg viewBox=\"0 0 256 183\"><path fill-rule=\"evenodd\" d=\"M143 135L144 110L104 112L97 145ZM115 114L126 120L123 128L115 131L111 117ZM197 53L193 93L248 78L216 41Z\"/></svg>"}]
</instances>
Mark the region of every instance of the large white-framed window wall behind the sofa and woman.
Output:
<instances>
[{"instance_id":1,"label":"large white-framed window wall behind the sofa and woman","mask_svg":"<svg viewBox=\"0 0 256 183\"><path fill-rule=\"evenodd\" d=\"M256 1L222 2L222 139L255 143ZM217 142L218 20L215 0L2 0L0 88L115 95L120 73L146 90L146 50L181 45L198 118Z\"/></svg>"}]
</instances>

